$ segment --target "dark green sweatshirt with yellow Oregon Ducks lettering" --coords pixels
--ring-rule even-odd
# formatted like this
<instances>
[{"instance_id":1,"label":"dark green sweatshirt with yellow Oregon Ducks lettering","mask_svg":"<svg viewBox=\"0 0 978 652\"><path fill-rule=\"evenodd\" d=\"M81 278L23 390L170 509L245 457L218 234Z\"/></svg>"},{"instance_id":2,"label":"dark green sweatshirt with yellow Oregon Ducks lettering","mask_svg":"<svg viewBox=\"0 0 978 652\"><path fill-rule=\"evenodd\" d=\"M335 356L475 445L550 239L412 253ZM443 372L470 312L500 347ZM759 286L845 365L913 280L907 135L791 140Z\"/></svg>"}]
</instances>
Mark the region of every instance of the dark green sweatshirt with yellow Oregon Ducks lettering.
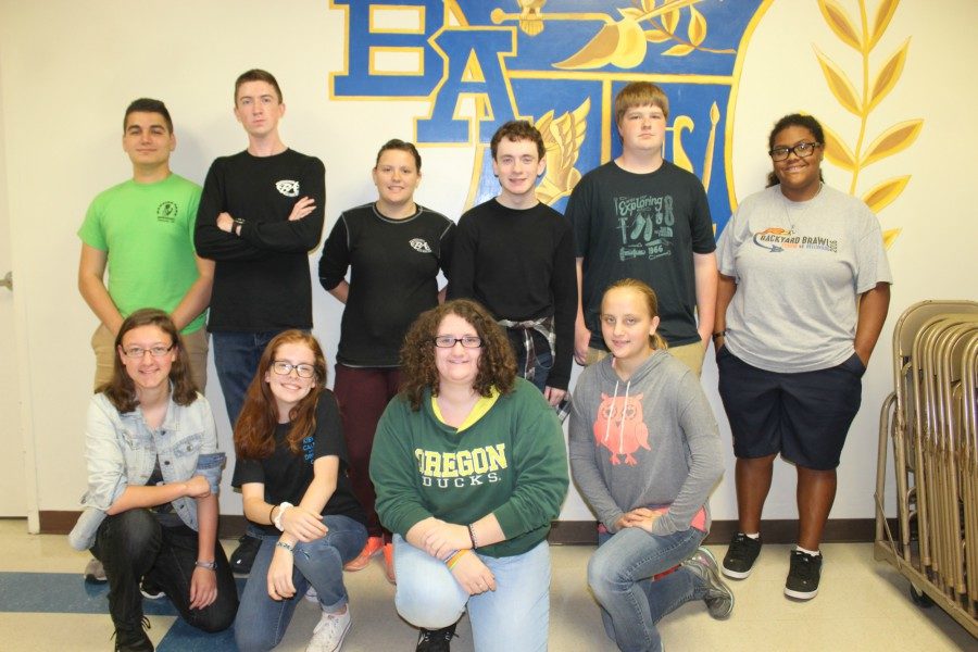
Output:
<instances>
[{"instance_id":1,"label":"dark green sweatshirt with yellow Oregon Ducks lettering","mask_svg":"<svg viewBox=\"0 0 978 652\"><path fill-rule=\"evenodd\" d=\"M492 513L506 540L479 553L523 554L547 537L567 494L564 434L522 378L461 432L435 416L429 393L417 412L399 396L377 425L371 479L380 522L402 537L429 516L464 525Z\"/></svg>"}]
</instances>

